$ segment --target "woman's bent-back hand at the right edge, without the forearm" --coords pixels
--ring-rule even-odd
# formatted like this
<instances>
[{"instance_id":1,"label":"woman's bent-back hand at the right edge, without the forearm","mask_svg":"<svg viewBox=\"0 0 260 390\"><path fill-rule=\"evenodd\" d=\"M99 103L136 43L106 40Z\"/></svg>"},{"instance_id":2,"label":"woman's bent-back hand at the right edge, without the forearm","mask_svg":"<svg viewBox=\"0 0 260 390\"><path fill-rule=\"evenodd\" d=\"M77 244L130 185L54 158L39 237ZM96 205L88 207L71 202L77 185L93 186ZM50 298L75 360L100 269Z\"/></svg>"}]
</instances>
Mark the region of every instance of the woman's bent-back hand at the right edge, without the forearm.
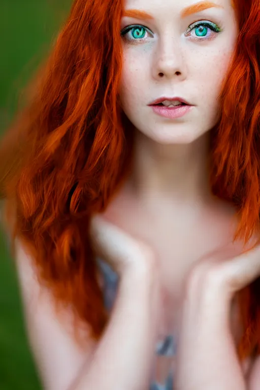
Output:
<instances>
[{"instance_id":1,"label":"woman's bent-back hand at the right edge, without the forearm","mask_svg":"<svg viewBox=\"0 0 260 390\"><path fill-rule=\"evenodd\" d=\"M202 258L192 267L186 288L195 285L215 288L232 299L260 276L260 245L252 239L246 247L242 243L230 243Z\"/></svg>"}]
</instances>

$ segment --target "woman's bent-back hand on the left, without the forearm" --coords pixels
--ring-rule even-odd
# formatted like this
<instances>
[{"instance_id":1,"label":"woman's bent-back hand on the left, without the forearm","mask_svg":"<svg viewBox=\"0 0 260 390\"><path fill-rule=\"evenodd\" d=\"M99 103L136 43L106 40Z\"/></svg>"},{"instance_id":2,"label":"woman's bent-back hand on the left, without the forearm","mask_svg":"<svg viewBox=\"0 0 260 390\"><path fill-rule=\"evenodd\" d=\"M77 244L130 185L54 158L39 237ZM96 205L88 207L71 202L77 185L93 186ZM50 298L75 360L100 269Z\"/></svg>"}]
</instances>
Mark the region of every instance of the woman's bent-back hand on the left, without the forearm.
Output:
<instances>
[{"instance_id":1,"label":"woman's bent-back hand on the left, without the forearm","mask_svg":"<svg viewBox=\"0 0 260 390\"><path fill-rule=\"evenodd\" d=\"M127 270L152 271L155 253L144 242L134 238L102 216L95 214L90 221L90 237L96 255L118 274Z\"/></svg>"}]
</instances>

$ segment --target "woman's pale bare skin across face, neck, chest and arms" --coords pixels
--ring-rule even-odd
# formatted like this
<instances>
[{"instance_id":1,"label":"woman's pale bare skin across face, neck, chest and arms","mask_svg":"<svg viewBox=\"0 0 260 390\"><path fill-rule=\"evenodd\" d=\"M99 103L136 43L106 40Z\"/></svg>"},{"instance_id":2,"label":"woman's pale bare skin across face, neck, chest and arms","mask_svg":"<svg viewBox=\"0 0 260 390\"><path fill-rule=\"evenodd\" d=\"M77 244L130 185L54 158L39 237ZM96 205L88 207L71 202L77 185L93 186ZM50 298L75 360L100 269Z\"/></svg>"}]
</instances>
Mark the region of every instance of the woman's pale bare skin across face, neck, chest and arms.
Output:
<instances>
[{"instance_id":1,"label":"woman's pale bare skin across face, neck, chest and arms","mask_svg":"<svg viewBox=\"0 0 260 390\"><path fill-rule=\"evenodd\" d=\"M149 34L138 43L129 32L122 38L121 104L136 135L135 164L102 218L92 221L97 253L120 275L115 308L98 345L76 344L68 331L70 313L64 313L67 321L58 320L17 245L29 339L48 390L145 390L154 343L169 329L179 341L174 390L259 387L259 361L250 362L250 370L246 362L239 364L240 328L230 315L237 291L260 274L260 250L239 256L242 244L231 244L235 210L212 196L206 164L238 29L231 0L214 0L219 7L181 16L196 3L125 2L125 10L152 18L121 21L122 29L142 25ZM209 29L210 38L200 41L194 30L185 35L197 21L222 30ZM181 96L194 107L178 120L159 117L148 104L165 95ZM31 299L40 292L39 300Z\"/></svg>"}]
</instances>

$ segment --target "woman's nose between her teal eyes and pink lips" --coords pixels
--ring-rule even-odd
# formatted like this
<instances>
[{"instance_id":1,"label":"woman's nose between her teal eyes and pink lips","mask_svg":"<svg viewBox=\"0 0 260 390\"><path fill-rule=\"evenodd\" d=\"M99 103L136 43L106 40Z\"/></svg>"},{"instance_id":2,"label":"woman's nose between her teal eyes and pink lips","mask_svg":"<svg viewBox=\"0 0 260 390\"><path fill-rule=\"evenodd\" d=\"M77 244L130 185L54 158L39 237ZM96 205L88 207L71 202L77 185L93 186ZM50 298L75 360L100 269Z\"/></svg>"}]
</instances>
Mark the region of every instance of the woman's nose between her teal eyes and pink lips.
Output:
<instances>
[{"instance_id":1,"label":"woman's nose between her teal eyes and pink lips","mask_svg":"<svg viewBox=\"0 0 260 390\"><path fill-rule=\"evenodd\" d=\"M158 41L154 52L152 76L156 80L177 79L183 81L187 77L187 64L181 42L174 38Z\"/></svg>"}]
</instances>

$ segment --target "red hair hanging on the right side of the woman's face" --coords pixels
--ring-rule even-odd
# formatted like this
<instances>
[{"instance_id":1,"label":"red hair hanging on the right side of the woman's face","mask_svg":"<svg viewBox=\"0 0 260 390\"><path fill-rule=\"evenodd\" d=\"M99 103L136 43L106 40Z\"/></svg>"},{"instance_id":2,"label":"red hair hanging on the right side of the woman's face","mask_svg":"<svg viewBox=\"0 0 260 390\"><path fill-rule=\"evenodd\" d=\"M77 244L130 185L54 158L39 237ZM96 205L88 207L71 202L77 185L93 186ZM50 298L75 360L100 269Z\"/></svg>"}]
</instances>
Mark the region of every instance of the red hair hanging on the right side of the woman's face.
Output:
<instances>
[{"instance_id":1,"label":"red hair hanging on the right side of the woman's face","mask_svg":"<svg viewBox=\"0 0 260 390\"><path fill-rule=\"evenodd\" d=\"M260 3L233 0L239 37L220 95L221 118L212 132L213 193L237 207L234 240L260 238ZM260 278L239 294L244 335L241 359L260 353Z\"/></svg>"}]
</instances>

